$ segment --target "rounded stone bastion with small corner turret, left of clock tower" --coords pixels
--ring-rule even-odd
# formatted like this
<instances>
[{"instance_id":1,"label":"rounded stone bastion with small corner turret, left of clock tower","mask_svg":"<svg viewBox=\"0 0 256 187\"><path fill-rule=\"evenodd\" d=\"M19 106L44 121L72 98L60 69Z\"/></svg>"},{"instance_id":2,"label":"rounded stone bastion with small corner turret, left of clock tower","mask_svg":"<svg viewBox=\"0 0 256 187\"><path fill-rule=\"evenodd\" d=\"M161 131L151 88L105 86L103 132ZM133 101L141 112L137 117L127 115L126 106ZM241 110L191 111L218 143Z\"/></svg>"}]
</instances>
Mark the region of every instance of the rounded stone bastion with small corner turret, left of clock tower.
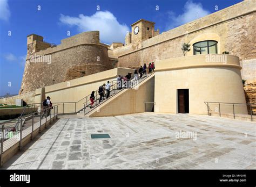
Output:
<instances>
[{"instance_id":1,"label":"rounded stone bastion with small corner turret, left of clock tower","mask_svg":"<svg viewBox=\"0 0 256 187\"><path fill-rule=\"evenodd\" d=\"M31 37L34 37L33 41ZM28 54L21 86L23 93L115 67L107 54L109 46L99 42L99 31L63 39L55 47L42 40L43 37L35 34L28 36ZM31 62L31 55L44 56L48 60L50 55L51 62Z\"/></svg>"}]
</instances>

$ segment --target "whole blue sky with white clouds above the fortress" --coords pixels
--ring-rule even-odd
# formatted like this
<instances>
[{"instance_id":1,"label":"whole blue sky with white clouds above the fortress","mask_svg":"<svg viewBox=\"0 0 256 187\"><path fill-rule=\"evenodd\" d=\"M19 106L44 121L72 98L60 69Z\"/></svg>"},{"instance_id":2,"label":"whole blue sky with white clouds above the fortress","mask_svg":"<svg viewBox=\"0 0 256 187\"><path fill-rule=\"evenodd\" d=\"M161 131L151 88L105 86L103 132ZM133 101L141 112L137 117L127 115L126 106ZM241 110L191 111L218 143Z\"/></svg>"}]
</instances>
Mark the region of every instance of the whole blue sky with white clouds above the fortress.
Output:
<instances>
[{"instance_id":1,"label":"whole blue sky with white clouds above the fortress","mask_svg":"<svg viewBox=\"0 0 256 187\"><path fill-rule=\"evenodd\" d=\"M60 40L100 31L100 42L123 42L139 19L156 22L160 33L242 0L0 0L0 96L18 94L26 57L26 36ZM70 35L68 35L70 33Z\"/></svg>"}]
</instances>

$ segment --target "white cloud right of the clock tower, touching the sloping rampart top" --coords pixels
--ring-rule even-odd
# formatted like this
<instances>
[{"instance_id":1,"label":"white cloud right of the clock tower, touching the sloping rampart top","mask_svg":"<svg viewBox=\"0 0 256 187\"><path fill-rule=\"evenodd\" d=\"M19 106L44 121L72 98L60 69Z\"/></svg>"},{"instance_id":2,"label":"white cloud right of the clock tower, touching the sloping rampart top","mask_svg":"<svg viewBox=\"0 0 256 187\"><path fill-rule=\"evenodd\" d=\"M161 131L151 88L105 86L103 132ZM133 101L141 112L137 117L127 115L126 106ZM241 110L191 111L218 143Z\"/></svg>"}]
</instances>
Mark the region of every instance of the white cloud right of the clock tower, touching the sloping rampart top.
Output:
<instances>
[{"instance_id":1,"label":"white cloud right of the clock tower, touching the sloping rampart top","mask_svg":"<svg viewBox=\"0 0 256 187\"><path fill-rule=\"evenodd\" d=\"M211 12L205 10L201 3L193 3L189 0L184 5L184 12L181 15L176 16L174 12L168 12L169 21L166 25L167 30L171 28L186 24L195 19L209 15Z\"/></svg>"}]
</instances>

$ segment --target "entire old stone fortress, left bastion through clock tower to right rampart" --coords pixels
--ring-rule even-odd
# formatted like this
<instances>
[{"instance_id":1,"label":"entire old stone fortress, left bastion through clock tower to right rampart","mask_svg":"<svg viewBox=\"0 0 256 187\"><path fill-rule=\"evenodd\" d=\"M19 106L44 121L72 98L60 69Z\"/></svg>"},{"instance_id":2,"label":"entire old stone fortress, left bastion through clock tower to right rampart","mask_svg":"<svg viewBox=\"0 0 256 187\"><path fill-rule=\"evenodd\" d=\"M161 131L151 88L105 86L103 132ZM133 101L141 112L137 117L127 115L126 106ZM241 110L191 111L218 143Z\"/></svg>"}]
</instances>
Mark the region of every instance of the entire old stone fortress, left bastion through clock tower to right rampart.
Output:
<instances>
[{"instance_id":1,"label":"entire old stone fortress, left bastion through clock tower to right rampart","mask_svg":"<svg viewBox=\"0 0 256 187\"><path fill-rule=\"evenodd\" d=\"M255 4L255 1L243 1L161 34L154 30L153 22L139 20L131 26L134 28L138 24L140 32L134 35L132 30L129 33L131 41L124 46L121 43L113 43L111 46L101 44L99 31L84 32L63 39L55 47L44 42L43 37L31 34L28 36L22 93L117 66L138 68L151 61L156 62L157 66L160 60L183 56L181 45L184 42L191 44L191 51L186 56L192 56L192 45L204 40L218 41L218 54L226 51L238 56L242 78L249 82L256 81ZM51 63L29 62L30 56L35 54L50 55Z\"/></svg>"}]
</instances>

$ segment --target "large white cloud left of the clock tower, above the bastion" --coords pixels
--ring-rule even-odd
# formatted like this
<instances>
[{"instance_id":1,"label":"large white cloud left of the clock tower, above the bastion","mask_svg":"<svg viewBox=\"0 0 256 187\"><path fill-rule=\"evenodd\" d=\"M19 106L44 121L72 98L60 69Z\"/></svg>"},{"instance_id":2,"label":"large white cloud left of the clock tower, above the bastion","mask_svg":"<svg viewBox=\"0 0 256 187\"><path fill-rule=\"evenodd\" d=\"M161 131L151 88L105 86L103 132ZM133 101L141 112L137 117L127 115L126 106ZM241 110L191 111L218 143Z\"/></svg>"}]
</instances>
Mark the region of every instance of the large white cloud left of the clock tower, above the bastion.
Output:
<instances>
[{"instance_id":1,"label":"large white cloud left of the clock tower, above the bastion","mask_svg":"<svg viewBox=\"0 0 256 187\"><path fill-rule=\"evenodd\" d=\"M97 11L92 16L80 14L78 17L60 15L59 20L70 26L77 26L79 32L99 31L100 41L107 44L124 42L125 34L130 31L126 24L120 24L109 11Z\"/></svg>"}]
</instances>

